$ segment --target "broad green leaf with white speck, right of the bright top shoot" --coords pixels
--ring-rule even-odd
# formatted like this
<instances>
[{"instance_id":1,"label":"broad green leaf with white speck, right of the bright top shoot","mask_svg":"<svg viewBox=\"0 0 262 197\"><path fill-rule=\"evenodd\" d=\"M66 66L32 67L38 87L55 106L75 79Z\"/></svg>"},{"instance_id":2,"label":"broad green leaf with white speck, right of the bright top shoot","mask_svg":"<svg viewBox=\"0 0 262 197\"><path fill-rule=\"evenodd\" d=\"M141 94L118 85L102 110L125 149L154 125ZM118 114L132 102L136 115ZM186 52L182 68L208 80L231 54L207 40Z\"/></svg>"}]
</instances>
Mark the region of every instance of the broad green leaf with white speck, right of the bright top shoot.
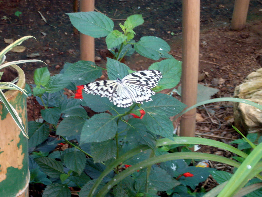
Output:
<instances>
[{"instance_id":1,"label":"broad green leaf with white speck, right of the bright top shoot","mask_svg":"<svg viewBox=\"0 0 262 197\"><path fill-rule=\"evenodd\" d=\"M140 55L152 60L158 60L159 58L168 55L170 46L165 40L155 36L144 36L134 44L135 51Z\"/></svg>"}]
</instances>

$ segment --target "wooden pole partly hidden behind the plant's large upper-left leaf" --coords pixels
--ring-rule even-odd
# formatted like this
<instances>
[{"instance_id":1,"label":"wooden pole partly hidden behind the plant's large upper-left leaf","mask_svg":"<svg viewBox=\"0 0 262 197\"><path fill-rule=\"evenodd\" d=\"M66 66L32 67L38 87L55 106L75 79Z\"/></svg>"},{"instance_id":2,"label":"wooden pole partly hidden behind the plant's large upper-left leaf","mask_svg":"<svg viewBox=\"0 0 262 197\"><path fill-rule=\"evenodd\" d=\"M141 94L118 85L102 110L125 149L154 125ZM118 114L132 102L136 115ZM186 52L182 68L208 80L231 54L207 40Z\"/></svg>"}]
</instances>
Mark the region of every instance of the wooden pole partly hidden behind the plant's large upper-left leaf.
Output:
<instances>
[{"instance_id":1,"label":"wooden pole partly hidden behind the plant's large upper-left leaf","mask_svg":"<svg viewBox=\"0 0 262 197\"><path fill-rule=\"evenodd\" d=\"M95 0L80 0L80 12L94 11ZM95 38L80 33L80 59L95 62Z\"/></svg>"}]
</instances>

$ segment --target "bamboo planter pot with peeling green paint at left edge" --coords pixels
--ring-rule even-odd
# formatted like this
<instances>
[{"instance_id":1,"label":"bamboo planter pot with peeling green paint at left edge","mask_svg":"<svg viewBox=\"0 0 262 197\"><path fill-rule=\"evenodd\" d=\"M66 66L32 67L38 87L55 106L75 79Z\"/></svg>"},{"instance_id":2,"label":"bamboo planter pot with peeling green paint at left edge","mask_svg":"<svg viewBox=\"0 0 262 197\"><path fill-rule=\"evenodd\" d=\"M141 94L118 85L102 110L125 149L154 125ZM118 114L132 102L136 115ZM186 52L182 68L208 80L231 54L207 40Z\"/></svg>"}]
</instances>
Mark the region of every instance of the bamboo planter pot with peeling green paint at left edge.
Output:
<instances>
[{"instance_id":1,"label":"bamboo planter pot with peeling green paint at left edge","mask_svg":"<svg viewBox=\"0 0 262 197\"><path fill-rule=\"evenodd\" d=\"M16 85L25 87L25 75L19 66ZM18 112L27 132L26 96L18 90L5 92L7 100ZM0 103L0 196L27 197L30 173L28 169L28 140L16 125L10 113Z\"/></svg>"}]
</instances>

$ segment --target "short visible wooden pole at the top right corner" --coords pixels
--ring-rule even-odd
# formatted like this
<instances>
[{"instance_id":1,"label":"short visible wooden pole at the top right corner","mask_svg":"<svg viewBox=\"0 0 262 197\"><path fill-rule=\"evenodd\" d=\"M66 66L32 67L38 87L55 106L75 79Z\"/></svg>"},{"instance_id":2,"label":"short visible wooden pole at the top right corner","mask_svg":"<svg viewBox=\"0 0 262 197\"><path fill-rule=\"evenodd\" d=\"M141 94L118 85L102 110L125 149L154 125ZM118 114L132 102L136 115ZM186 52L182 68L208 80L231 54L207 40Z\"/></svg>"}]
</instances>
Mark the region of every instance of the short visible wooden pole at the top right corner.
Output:
<instances>
[{"instance_id":1,"label":"short visible wooden pole at the top right corner","mask_svg":"<svg viewBox=\"0 0 262 197\"><path fill-rule=\"evenodd\" d=\"M250 0L235 0L234 11L231 21L232 30L240 30L245 27L249 1Z\"/></svg>"}]
</instances>

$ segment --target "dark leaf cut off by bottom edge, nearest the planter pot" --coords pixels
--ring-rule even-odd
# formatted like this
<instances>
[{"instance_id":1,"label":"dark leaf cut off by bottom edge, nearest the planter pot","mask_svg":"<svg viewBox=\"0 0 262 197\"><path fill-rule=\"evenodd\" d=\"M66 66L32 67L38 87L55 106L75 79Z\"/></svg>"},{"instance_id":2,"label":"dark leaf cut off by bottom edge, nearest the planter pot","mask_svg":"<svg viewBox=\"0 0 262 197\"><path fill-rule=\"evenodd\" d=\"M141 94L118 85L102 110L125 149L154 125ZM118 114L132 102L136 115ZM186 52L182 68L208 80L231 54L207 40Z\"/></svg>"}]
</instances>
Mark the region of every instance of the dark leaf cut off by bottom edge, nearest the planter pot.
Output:
<instances>
[{"instance_id":1,"label":"dark leaf cut off by bottom edge, nearest the planter pot","mask_svg":"<svg viewBox=\"0 0 262 197\"><path fill-rule=\"evenodd\" d=\"M67 185L52 183L47 185L43 191L42 197L71 197L71 191Z\"/></svg>"}]
</instances>

